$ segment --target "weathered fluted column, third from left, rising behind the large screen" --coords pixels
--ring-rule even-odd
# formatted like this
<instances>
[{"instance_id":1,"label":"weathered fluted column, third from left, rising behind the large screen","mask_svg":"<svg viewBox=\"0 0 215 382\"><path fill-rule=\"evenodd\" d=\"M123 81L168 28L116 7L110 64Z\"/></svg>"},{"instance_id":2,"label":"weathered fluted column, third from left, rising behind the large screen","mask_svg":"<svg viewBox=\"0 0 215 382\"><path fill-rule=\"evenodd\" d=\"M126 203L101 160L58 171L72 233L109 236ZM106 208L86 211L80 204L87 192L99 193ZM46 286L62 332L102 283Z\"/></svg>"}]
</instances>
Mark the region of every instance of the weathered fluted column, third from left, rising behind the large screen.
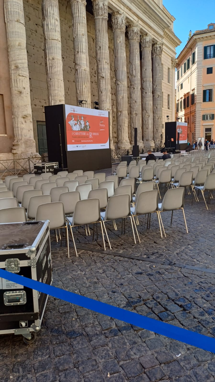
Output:
<instances>
[{"instance_id":1,"label":"weathered fluted column, third from left, rising behind the large screen","mask_svg":"<svg viewBox=\"0 0 215 382\"><path fill-rule=\"evenodd\" d=\"M75 85L78 100L86 100L83 107L91 108L90 65L86 29L85 0L71 0L72 29L75 55Z\"/></svg>"}]
</instances>

